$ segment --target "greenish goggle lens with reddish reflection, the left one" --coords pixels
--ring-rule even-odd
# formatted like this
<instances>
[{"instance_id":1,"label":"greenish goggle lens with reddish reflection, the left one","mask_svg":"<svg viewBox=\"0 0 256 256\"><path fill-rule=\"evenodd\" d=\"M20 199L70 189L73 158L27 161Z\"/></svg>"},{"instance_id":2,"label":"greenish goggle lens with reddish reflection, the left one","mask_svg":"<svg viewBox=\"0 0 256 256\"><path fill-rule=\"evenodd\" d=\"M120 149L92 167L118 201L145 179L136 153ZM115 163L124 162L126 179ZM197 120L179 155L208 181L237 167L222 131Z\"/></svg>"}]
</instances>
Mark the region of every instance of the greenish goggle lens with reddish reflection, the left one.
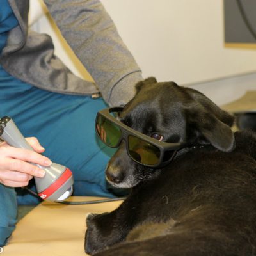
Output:
<instances>
[{"instance_id":1,"label":"greenish goggle lens with reddish reflection, the left one","mask_svg":"<svg viewBox=\"0 0 256 256\"><path fill-rule=\"evenodd\" d=\"M102 115L97 116L96 130L100 139L109 147L116 147L122 136L120 128Z\"/></svg>"}]
</instances>

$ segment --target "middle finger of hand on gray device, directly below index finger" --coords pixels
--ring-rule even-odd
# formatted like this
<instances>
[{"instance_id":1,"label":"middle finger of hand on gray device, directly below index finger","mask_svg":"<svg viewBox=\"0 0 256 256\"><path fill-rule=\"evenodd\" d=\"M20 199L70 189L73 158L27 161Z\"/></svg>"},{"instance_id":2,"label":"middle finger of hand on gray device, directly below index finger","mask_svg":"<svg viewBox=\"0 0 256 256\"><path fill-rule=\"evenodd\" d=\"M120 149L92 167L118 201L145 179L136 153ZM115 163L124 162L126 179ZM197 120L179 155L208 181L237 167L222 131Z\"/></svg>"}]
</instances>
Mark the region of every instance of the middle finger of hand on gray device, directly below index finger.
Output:
<instances>
[{"instance_id":1,"label":"middle finger of hand on gray device, directly below index finger","mask_svg":"<svg viewBox=\"0 0 256 256\"><path fill-rule=\"evenodd\" d=\"M41 169L34 164L27 163L26 161L21 161L19 159L10 159L6 158L4 161L0 159L0 166L2 170L10 170L10 171L17 171L22 173L27 173L32 176L36 177L44 177L45 170ZM1 172L1 170L0 170Z\"/></svg>"}]
</instances>

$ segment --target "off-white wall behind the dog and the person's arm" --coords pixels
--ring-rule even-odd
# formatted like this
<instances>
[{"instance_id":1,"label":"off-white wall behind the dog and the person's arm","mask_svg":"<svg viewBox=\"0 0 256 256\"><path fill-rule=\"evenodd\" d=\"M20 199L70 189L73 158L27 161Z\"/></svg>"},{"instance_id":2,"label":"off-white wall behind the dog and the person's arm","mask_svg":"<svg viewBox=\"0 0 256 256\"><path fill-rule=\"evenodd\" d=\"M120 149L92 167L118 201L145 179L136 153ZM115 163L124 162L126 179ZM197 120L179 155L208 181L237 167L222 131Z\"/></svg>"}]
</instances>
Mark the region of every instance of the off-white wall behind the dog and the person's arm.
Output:
<instances>
[{"instance_id":1,"label":"off-white wall behind the dog and the person's arm","mask_svg":"<svg viewBox=\"0 0 256 256\"><path fill-rule=\"evenodd\" d=\"M38 0L31 0L31 20L35 20L33 13L40 10L37 3ZM194 84L220 104L239 97L247 85L250 89L254 87L255 75L202 83L256 72L255 50L224 47L222 0L102 0L102 3L144 77ZM92 79L61 40L58 29L49 22L49 15L37 20L33 29L51 35L56 55L78 76ZM224 87L226 90L221 94Z\"/></svg>"}]
</instances>

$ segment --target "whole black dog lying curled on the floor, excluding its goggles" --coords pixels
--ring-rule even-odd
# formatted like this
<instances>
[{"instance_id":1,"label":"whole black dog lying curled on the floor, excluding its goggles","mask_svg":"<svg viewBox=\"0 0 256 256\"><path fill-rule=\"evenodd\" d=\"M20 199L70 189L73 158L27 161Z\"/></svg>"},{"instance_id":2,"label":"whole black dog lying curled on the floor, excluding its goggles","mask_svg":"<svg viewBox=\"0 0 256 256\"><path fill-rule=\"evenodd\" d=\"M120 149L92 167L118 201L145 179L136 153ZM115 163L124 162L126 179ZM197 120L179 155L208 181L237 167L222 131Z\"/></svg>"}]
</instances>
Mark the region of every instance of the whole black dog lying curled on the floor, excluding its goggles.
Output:
<instances>
[{"instance_id":1,"label":"whole black dog lying curled on the floor, excluding its goggles","mask_svg":"<svg viewBox=\"0 0 256 256\"><path fill-rule=\"evenodd\" d=\"M88 216L86 252L256 255L255 135L233 134L233 116L191 88L149 78L137 89L122 122L191 147L152 170L132 161L123 141L106 177L132 191L115 211Z\"/></svg>"}]
</instances>

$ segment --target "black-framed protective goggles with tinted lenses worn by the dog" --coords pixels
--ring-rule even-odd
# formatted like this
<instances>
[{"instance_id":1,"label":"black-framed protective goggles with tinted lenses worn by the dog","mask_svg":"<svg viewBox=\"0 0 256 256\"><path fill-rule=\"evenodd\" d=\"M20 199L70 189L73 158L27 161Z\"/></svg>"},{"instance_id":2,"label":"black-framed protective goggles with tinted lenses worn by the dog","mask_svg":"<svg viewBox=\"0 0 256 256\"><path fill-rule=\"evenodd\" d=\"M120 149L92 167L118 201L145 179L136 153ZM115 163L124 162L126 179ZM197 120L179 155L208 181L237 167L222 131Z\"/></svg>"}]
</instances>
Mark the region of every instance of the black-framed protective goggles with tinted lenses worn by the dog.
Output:
<instances>
[{"instance_id":1,"label":"black-framed protective goggles with tinted lenses worn by the dog","mask_svg":"<svg viewBox=\"0 0 256 256\"><path fill-rule=\"evenodd\" d=\"M102 109L97 113L95 130L108 147L117 148L124 140L131 159L151 168L170 163L176 150L185 147L181 143L156 140L128 127L117 119L122 110L121 107L115 107Z\"/></svg>"}]
</instances>

